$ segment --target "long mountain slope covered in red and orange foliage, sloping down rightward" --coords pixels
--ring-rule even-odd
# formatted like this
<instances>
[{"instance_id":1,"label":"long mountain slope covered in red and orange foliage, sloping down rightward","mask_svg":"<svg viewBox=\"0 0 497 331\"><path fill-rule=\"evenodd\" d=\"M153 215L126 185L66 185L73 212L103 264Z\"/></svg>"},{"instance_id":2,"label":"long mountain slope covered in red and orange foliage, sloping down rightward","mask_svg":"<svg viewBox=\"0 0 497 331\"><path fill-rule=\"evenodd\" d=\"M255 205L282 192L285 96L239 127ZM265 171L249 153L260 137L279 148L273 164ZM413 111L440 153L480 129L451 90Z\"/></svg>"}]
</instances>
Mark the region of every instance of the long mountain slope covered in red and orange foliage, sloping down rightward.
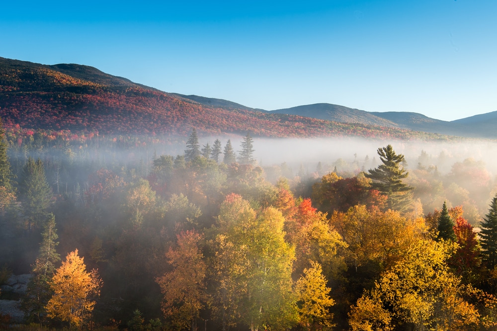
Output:
<instances>
[{"instance_id":1,"label":"long mountain slope covered in red and orange foliage, sloping down rightward","mask_svg":"<svg viewBox=\"0 0 497 331\"><path fill-rule=\"evenodd\" d=\"M83 65L5 58L0 58L0 117L6 127L113 135L186 137L195 127L200 135L446 139L394 126L337 123L166 93Z\"/></svg>"}]
</instances>

